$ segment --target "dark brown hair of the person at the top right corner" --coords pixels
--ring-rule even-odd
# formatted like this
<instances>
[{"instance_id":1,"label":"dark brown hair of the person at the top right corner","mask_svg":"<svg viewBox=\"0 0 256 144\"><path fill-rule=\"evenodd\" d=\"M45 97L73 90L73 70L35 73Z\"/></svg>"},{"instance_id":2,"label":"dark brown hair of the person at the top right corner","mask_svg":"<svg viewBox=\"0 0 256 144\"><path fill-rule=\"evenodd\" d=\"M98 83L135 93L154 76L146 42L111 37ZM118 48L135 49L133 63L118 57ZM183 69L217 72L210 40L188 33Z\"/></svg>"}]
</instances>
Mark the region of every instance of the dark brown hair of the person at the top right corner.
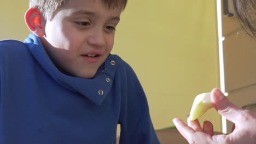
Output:
<instances>
[{"instance_id":1,"label":"dark brown hair of the person at the top right corner","mask_svg":"<svg viewBox=\"0 0 256 144\"><path fill-rule=\"evenodd\" d=\"M234 0L234 7L242 28L249 35L256 38L256 1Z\"/></svg>"}]
</instances>

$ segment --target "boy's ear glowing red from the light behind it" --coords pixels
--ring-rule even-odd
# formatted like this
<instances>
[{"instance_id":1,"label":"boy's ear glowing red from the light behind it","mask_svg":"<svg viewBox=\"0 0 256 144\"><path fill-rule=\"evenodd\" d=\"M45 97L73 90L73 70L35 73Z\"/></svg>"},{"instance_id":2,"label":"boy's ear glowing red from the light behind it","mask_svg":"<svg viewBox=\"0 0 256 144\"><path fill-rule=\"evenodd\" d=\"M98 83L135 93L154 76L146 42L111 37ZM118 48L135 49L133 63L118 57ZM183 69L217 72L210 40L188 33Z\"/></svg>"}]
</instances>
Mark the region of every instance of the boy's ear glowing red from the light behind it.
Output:
<instances>
[{"instance_id":1,"label":"boy's ear glowing red from the light behind it","mask_svg":"<svg viewBox=\"0 0 256 144\"><path fill-rule=\"evenodd\" d=\"M38 37L43 37L45 35L44 27L42 25L43 16L40 11L36 8L30 8L25 14L25 21L28 28Z\"/></svg>"}]
</instances>

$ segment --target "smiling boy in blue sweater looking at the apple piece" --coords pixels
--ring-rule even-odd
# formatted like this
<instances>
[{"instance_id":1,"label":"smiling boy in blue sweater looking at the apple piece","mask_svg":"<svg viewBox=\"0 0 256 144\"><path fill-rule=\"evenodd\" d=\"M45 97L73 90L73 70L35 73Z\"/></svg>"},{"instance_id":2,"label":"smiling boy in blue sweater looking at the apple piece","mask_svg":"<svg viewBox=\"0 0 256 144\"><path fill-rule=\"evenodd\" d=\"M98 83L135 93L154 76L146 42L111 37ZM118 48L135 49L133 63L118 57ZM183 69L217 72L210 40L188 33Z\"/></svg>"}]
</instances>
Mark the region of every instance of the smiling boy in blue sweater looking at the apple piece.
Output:
<instances>
[{"instance_id":1,"label":"smiling boy in blue sweater looking at the apple piece","mask_svg":"<svg viewBox=\"0 0 256 144\"><path fill-rule=\"evenodd\" d=\"M159 143L143 89L111 55L126 0L31 0L0 42L0 143Z\"/></svg>"}]
</instances>

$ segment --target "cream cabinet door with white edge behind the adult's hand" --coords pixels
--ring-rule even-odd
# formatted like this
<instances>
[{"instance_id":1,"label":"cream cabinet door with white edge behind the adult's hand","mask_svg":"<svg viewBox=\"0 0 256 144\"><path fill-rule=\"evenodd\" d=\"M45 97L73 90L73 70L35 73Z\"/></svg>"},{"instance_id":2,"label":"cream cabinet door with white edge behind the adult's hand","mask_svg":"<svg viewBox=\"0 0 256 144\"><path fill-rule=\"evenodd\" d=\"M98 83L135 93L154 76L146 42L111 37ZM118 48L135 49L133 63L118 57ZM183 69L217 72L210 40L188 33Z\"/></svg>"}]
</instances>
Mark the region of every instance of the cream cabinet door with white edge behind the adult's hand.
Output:
<instances>
[{"instance_id":1,"label":"cream cabinet door with white edge behind the adult's hand","mask_svg":"<svg viewBox=\"0 0 256 144\"><path fill-rule=\"evenodd\" d=\"M256 103L256 41L239 27L232 5L217 0L220 88L242 107ZM223 133L229 133L232 123L222 120Z\"/></svg>"}]
</instances>

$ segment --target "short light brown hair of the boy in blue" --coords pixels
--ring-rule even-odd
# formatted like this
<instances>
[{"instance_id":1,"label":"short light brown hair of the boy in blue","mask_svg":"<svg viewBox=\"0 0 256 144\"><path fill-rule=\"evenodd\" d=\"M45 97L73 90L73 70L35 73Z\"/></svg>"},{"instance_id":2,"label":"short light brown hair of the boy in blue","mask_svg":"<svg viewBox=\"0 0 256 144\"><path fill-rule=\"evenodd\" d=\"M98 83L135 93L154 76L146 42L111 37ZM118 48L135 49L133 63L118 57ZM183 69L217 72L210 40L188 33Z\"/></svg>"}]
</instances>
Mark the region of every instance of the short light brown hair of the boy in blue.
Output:
<instances>
[{"instance_id":1,"label":"short light brown hair of the boy in blue","mask_svg":"<svg viewBox=\"0 0 256 144\"><path fill-rule=\"evenodd\" d=\"M45 19L52 20L57 10L68 0L30 0L30 8L38 8ZM72 0L71 0L72 1ZM117 8L122 5L123 10L126 7L127 0L102 0L109 9Z\"/></svg>"}]
</instances>

